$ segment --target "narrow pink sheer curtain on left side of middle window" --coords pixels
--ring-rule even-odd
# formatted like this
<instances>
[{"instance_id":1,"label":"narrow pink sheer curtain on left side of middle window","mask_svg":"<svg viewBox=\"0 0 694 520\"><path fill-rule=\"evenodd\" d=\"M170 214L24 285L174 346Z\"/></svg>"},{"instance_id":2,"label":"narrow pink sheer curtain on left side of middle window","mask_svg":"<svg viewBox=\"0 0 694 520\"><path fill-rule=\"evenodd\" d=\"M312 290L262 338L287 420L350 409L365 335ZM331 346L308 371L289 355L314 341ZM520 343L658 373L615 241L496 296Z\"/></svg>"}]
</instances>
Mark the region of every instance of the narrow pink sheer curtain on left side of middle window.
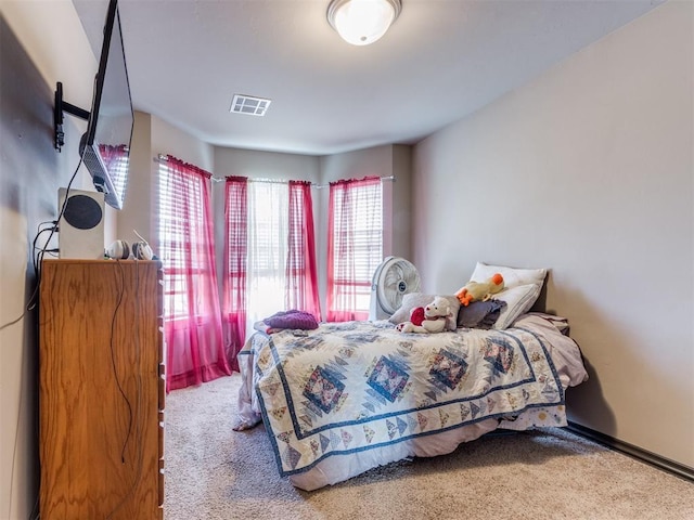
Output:
<instances>
[{"instance_id":1,"label":"narrow pink sheer curtain on left side of middle window","mask_svg":"<svg viewBox=\"0 0 694 520\"><path fill-rule=\"evenodd\" d=\"M222 326L227 360L239 370L236 354L246 338L246 258L248 179L228 177L226 183L224 292Z\"/></svg>"}]
</instances>

